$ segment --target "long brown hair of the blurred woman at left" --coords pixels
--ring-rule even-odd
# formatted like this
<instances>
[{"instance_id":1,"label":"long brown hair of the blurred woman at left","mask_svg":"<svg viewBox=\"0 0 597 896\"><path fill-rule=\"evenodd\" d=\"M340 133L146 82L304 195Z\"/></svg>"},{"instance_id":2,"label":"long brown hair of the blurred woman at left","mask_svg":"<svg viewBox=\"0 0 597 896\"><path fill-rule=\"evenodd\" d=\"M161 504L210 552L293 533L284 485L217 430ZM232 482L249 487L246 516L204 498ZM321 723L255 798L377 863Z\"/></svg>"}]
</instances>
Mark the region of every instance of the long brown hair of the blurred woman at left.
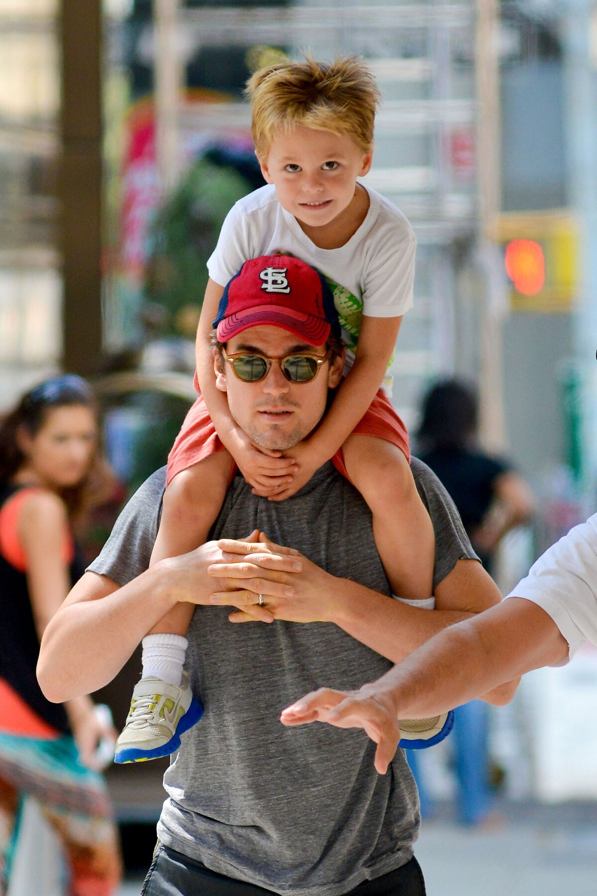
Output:
<instances>
[{"instance_id":1,"label":"long brown hair of the blurred woman at left","mask_svg":"<svg viewBox=\"0 0 597 896\"><path fill-rule=\"evenodd\" d=\"M50 411L74 405L82 405L94 415L98 414L98 404L90 384L81 376L72 374L54 376L22 396L16 408L0 422L0 486L9 483L27 460L19 447L18 432L21 427L35 436L44 426ZM81 482L60 492L72 526L79 529L91 508L107 501L114 486L115 478L107 462L95 452Z\"/></svg>"}]
</instances>

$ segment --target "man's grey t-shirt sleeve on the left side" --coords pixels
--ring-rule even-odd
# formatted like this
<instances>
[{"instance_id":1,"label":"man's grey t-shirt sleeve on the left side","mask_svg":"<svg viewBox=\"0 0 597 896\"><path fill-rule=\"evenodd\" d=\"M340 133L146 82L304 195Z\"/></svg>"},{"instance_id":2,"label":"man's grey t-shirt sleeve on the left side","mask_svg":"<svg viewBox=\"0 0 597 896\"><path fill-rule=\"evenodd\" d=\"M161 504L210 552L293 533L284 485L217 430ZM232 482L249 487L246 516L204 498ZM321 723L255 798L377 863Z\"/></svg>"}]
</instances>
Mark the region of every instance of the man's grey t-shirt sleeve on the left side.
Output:
<instances>
[{"instance_id":1,"label":"man's grey t-shirt sleeve on the left side","mask_svg":"<svg viewBox=\"0 0 597 896\"><path fill-rule=\"evenodd\" d=\"M106 575L122 587L149 569L165 488L166 467L163 467L132 495L100 555L87 567L88 572Z\"/></svg>"}]
</instances>

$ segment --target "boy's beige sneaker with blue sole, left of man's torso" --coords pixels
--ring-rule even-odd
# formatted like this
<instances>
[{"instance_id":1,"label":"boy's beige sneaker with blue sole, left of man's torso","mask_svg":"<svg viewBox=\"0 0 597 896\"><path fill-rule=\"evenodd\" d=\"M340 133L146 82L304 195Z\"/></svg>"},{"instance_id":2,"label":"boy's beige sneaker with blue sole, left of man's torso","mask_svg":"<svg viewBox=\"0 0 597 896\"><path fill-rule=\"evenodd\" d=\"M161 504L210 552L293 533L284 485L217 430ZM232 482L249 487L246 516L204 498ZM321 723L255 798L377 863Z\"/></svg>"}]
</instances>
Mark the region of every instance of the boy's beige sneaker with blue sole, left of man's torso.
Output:
<instances>
[{"instance_id":1,"label":"boy's beige sneaker with blue sole, left of man's torso","mask_svg":"<svg viewBox=\"0 0 597 896\"><path fill-rule=\"evenodd\" d=\"M152 675L141 678L116 741L114 761L146 762L174 753L180 746L180 736L202 715L203 706L193 697L186 672L180 687Z\"/></svg>"}]
</instances>

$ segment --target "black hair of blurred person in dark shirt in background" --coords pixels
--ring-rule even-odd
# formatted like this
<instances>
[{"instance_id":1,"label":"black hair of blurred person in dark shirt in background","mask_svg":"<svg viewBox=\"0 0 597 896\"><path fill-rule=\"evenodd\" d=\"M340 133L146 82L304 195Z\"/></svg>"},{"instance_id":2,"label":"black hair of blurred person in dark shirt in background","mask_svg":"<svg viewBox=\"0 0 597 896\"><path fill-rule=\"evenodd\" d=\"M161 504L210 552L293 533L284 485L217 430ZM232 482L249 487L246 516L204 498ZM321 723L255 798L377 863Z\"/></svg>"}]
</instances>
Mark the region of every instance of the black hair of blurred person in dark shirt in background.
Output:
<instances>
[{"instance_id":1,"label":"black hair of blurred person in dark shirt in background","mask_svg":"<svg viewBox=\"0 0 597 896\"><path fill-rule=\"evenodd\" d=\"M423 451L448 448L464 451L477 433L479 403L473 387L460 380L432 386L422 401L418 438Z\"/></svg>"}]
</instances>

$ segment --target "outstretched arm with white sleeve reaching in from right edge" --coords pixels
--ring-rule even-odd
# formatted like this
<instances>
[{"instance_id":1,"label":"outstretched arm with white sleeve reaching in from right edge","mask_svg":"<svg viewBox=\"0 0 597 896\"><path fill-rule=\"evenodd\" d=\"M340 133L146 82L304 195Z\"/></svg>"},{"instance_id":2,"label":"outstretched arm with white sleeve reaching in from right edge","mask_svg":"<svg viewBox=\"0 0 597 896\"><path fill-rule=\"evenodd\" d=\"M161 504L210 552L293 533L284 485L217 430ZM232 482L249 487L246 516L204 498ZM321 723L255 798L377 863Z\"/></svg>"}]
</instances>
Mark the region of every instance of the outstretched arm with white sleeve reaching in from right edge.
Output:
<instances>
[{"instance_id":1,"label":"outstretched arm with white sleeve reaching in from right edge","mask_svg":"<svg viewBox=\"0 0 597 896\"><path fill-rule=\"evenodd\" d=\"M439 633L358 691L307 694L282 721L364 728L383 774L397 749L398 719L424 718L532 669L565 665L585 641L597 646L597 514L550 547L499 606Z\"/></svg>"}]
</instances>

